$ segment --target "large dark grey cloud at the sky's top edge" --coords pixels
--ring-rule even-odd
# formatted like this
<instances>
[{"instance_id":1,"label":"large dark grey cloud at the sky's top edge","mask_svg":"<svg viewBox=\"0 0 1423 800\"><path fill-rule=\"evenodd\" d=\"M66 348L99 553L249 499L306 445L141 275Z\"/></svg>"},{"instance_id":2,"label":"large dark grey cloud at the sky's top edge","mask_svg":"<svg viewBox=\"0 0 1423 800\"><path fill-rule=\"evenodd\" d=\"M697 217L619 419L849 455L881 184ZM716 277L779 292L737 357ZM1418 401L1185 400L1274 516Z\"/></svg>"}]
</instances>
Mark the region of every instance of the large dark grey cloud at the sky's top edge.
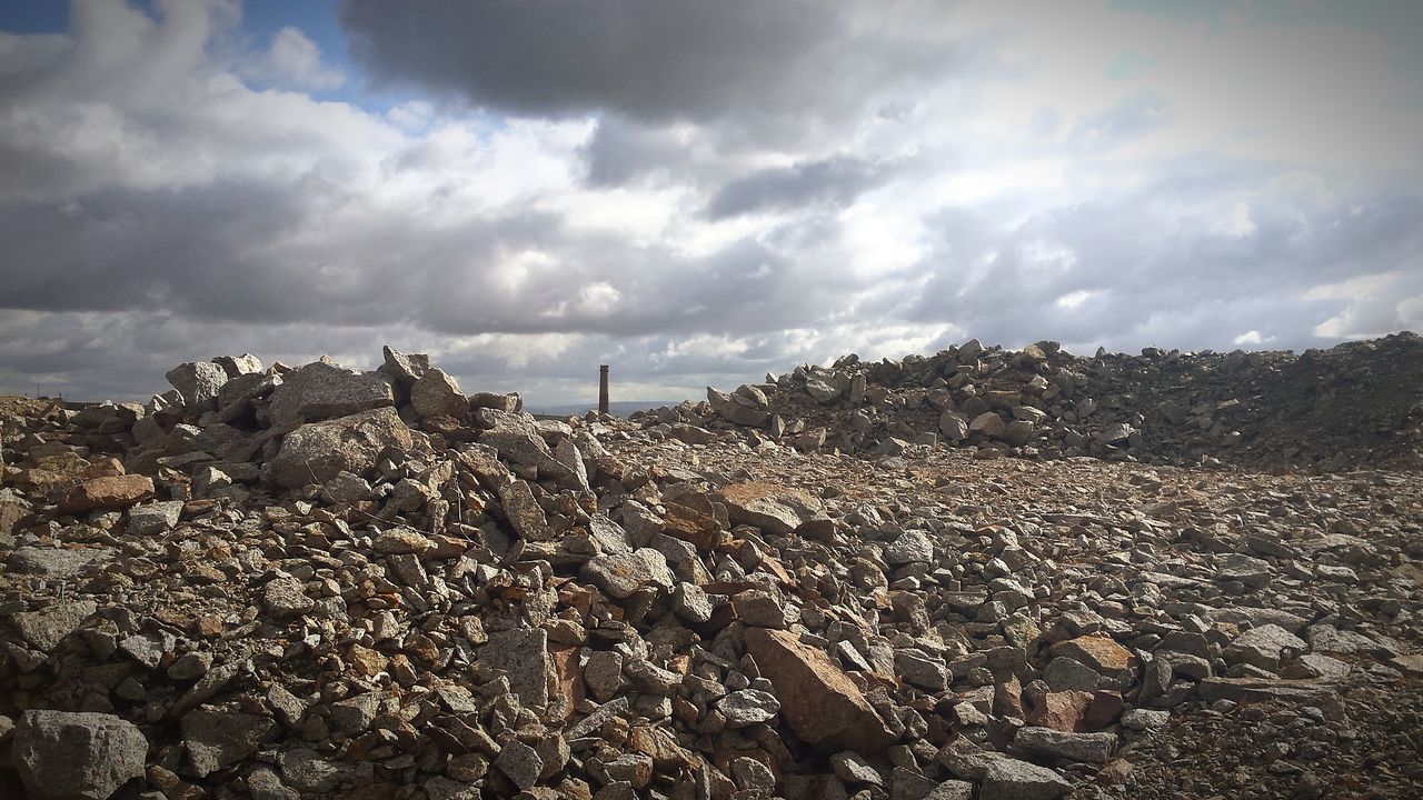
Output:
<instances>
[{"instance_id":1,"label":"large dark grey cloud at the sky's top edge","mask_svg":"<svg viewBox=\"0 0 1423 800\"><path fill-rule=\"evenodd\" d=\"M518 115L804 121L958 60L951 43L885 24L867 34L851 10L818 0L343 0L340 19L379 80Z\"/></svg>"}]
</instances>

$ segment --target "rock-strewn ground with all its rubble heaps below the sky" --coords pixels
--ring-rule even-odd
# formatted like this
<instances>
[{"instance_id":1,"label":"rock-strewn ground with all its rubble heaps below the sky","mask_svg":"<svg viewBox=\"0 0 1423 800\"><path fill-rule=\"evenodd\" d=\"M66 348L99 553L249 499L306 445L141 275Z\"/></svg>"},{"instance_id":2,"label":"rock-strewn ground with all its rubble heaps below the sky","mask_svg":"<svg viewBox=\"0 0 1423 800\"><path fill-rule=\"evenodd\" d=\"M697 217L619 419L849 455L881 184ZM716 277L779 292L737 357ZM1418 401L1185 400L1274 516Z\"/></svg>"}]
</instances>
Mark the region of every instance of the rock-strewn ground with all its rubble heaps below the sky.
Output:
<instances>
[{"instance_id":1,"label":"rock-strewn ground with all its rubble heaps below the sky","mask_svg":"<svg viewBox=\"0 0 1423 800\"><path fill-rule=\"evenodd\" d=\"M1420 372L970 343L535 420L387 352L0 399L0 797L1423 796Z\"/></svg>"}]
</instances>

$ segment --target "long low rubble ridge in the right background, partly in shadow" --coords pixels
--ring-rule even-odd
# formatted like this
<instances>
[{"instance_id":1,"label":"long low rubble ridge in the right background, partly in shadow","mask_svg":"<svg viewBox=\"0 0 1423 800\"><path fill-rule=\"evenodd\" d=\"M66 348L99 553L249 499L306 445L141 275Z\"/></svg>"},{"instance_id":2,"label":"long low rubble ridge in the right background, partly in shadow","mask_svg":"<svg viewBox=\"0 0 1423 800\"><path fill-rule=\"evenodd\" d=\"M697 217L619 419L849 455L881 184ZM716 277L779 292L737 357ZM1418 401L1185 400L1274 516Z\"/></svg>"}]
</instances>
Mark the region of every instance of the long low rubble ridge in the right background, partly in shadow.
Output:
<instances>
[{"instance_id":1,"label":"long low rubble ridge in the right background, partly in shadow","mask_svg":"<svg viewBox=\"0 0 1423 800\"><path fill-rule=\"evenodd\" d=\"M1332 350L1020 352L978 340L931 357L767 374L707 401L636 414L684 441L741 427L801 450L891 454L925 444L980 457L1094 456L1157 464L1423 467L1423 337Z\"/></svg>"}]
</instances>

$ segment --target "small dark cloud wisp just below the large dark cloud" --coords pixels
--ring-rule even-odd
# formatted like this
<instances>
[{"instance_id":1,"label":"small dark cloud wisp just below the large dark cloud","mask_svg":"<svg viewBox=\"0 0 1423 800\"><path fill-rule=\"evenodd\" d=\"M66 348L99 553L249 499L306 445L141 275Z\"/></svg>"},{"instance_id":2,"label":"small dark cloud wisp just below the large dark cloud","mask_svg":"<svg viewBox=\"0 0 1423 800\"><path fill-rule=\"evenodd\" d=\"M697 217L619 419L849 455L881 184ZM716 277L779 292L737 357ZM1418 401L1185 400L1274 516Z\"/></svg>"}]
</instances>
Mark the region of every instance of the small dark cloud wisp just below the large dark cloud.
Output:
<instances>
[{"instance_id":1,"label":"small dark cloud wisp just below the large dark cloud","mask_svg":"<svg viewBox=\"0 0 1423 800\"><path fill-rule=\"evenodd\" d=\"M798 211L821 204L844 206L887 178L887 168L850 157L763 169L721 186L707 202L707 216L726 219L758 211Z\"/></svg>"}]
</instances>

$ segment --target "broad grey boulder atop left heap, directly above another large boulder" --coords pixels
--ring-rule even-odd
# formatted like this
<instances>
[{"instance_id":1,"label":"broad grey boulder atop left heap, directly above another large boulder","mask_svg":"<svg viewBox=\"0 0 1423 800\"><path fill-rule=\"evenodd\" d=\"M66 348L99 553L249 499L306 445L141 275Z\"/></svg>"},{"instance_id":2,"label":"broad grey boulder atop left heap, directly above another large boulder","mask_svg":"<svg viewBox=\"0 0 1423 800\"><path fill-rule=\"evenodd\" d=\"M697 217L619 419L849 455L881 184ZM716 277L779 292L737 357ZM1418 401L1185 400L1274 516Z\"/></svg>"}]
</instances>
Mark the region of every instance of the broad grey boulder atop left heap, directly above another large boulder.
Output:
<instances>
[{"instance_id":1,"label":"broad grey boulder atop left heap, directly above another large boulder","mask_svg":"<svg viewBox=\"0 0 1423 800\"><path fill-rule=\"evenodd\" d=\"M314 362L282 376L282 386L272 391L269 413L273 427L285 427L394 404L396 390L388 376Z\"/></svg>"}]
</instances>

